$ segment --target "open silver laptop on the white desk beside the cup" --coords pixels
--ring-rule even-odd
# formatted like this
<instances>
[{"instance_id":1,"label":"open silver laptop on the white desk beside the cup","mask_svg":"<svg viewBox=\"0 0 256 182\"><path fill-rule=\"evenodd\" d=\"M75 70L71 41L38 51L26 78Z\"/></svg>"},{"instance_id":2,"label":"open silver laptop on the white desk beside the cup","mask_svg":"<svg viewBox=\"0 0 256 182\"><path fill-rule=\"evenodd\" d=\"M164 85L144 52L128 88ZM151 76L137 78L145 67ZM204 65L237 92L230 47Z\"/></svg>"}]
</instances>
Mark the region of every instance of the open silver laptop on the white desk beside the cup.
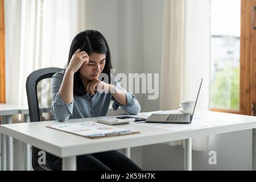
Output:
<instances>
[{"instance_id":1,"label":"open silver laptop on the white desk beside the cup","mask_svg":"<svg viewBox=\"0 0 256 182\"><path fill-rule=\"evenodd\" d=\"M193 114L196 109L196 102L199 97L199 92L201 89L202 82L203 82L203 78L201 78L201 82L200 82L199 89L197 92L193 112L191 114L151 114L150 117L148 117L145 122L148 122L148 123L183 123L183 124L191 123Z\"/></svg>"}]
</instances>

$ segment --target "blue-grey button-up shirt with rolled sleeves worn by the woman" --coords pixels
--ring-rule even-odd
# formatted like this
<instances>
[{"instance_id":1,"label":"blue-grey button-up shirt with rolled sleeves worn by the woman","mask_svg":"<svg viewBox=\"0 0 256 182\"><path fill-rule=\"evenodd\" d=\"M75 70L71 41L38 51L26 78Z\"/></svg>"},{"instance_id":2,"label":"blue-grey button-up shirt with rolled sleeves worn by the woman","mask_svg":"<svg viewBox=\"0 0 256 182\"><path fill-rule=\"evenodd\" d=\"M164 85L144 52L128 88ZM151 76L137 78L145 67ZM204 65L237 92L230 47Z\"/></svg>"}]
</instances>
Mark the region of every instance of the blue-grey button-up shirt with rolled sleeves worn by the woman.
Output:
<instances>
[{"instance_id":1,"label":"blue-grey button-up shirt with rolled sleeves worn by the woman","mask_svg":"<svg viewBox=\"0 0 256 182\"><path fill-rule=\"evenodd\" d=\"M122 107L128 114L137 115L141 111L141 106L135 96L128 93L119 82L115 79L115 87L122 90L126 95L127 105L118 104L115 98L110 93L98 93L90 97L89 94L84 96L73 96L73 101L70 104L64 103L60 97L59 90L63 81L65 71L56 73L52 77L51 92L52 92L52 117L57 121L66 121L67 119L101 117L108 112L110 101L114 101L112 107L117 110Z\"/></svg>"}]
</instances>

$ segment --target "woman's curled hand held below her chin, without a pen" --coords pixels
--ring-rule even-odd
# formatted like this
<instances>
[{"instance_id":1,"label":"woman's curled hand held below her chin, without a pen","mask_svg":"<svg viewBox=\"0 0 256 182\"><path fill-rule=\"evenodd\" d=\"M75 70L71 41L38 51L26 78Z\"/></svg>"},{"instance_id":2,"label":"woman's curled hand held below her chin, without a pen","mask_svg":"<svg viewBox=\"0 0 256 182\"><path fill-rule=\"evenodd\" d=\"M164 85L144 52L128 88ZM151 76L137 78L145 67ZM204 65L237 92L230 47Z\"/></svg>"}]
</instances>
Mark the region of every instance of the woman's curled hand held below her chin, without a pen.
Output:
<instances>
[{"instance_id":1,"label":"woman's curled hand held below her chin, without a pen","mask_svg":"<svg viewBox=\"0 0 256 182\"><path fill-rule=\"evenodd\" d=\"M112 88L114 85L110 85L105 83L104 81L98 80L98 78L92 80L89 82L89 84L86 86L86 92L89 92L94 96L95 92L110 92L110 88Z\"/></svg>"}]
</instances>

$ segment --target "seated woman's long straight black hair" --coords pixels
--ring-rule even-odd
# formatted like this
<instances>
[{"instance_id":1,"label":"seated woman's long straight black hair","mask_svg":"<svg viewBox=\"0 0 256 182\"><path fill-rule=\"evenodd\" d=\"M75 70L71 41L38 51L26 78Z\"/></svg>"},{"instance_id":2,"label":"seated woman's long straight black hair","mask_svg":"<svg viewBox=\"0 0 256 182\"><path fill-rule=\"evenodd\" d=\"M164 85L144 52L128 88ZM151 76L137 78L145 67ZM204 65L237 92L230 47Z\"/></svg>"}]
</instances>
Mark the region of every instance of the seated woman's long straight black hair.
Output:
<instances>
[{"instance_id":1,"label":"seated woman's long straight black hair","mask_svg":"<svg viewBox=\"0 0 256 182\"><path fill-rule=\"evenodd\" d=\"M86 53L88 53L89 56L92 52L103 53L106 55L106 64L102 73L106 73L108 75L110 83L110 69L112 69L112 64L109 45L105 37L96 30L85 30L75 36L71 43L68 56L68 63L65 68L68 67L71 58L73 54L76 52L76 50L79 48L81 49L84 43L86 43L85 47L81 51L85 51ZM82 96L85 94L85 88L82 84L79 71L77 71L74 75L73 91L74 94L78 96Z\"/></svg>"}]
</instances>

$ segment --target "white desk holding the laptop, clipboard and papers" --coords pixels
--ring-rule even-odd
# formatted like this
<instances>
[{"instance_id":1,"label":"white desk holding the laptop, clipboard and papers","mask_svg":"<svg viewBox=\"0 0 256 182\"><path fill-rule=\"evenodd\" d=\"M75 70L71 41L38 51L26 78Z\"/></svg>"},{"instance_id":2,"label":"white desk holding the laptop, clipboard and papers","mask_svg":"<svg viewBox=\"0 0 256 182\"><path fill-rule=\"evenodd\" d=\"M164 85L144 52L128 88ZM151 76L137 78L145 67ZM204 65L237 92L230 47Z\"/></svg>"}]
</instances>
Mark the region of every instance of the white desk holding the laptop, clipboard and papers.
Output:
<instances>
[{"instance_id":1,"label":"white desk holding the laptop, clipboard and papers","mask_svg":"<svg viewBox=\"0 0 256 182\"><path fill-rule=\"evenodd\" d=\"M57 124L56 121L33 122L33 123L16 123L9 125L1 125L0 132L10 137L19 139L20 143L30 143L32 146L41 148L53 155L63 158L64 170L76 169L76 156L83 154L92 154L94 152L102 152L109 150L118 150L127 147L145 146L148 144L156 144L170 142L173 140L185 140L185 163L184 169L191 170L192 147L191 138L205 135L229 133L233 131L248 130L256 128L256 117L247 115L216 113L212 111L199 111L197 117L207 119L217 119L224 121L237 121L239 123L226 124L222 126L206 126L203 128L189 129L185 131L174 131L167 129L159 129L148 126L139 125L119 125L123 129L133 129L141 131L140 134L124 135L119 137L108 137L101 139L88 139L49 129L47 125ZM72 119L68 122L95 121L96 118ZM193 121L192 121L193 122ZM253 138L253 143L255 137ZM14 150L19 151L17 144ZM22 152L22 151L20 151ZM18 154L18 153L17 153ZM253 154L255 154L253 147ZM15 157L15 163L22 162L22 158ZM15 169L23 169L22 165L14 165Z\"/></svg>"}]
</instances>

